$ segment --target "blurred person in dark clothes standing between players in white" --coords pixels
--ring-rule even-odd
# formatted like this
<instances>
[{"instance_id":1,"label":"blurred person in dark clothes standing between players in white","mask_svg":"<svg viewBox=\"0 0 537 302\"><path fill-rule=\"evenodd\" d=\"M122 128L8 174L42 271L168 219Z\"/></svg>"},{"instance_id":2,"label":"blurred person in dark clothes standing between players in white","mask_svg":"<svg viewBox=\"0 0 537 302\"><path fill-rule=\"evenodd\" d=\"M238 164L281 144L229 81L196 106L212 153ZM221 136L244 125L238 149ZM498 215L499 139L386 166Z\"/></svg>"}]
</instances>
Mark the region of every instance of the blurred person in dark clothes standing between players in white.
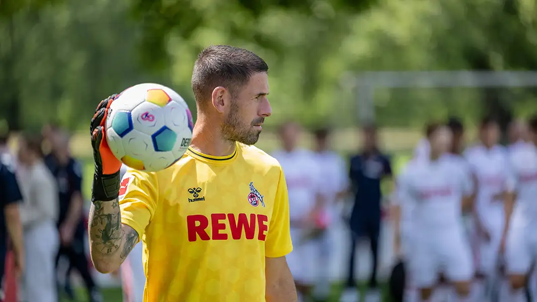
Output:
<instances>
[{"instance_id":1,"label":"blurred person in dark clothes standing between players in white","mask_svg":"<svg viewBox=\"0 0 537 302\"><path fill-rule=\"evenodd\" d=\"M354 207L350 219L352 242L349 276L342 301L357 300L354 279L355 249L358 240L363 237L369 239L373 254L373 268L369 277L366 302L380 301L376 271L381 223L381 181L386 177L391 178L391 164L388 156L379 149L376 128L372 125L362 129L362 150L360 154L351 157L349 176L354 192Z\"/></svg>"}]
</instances>

